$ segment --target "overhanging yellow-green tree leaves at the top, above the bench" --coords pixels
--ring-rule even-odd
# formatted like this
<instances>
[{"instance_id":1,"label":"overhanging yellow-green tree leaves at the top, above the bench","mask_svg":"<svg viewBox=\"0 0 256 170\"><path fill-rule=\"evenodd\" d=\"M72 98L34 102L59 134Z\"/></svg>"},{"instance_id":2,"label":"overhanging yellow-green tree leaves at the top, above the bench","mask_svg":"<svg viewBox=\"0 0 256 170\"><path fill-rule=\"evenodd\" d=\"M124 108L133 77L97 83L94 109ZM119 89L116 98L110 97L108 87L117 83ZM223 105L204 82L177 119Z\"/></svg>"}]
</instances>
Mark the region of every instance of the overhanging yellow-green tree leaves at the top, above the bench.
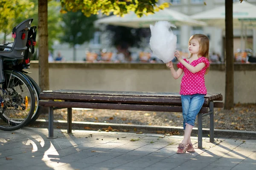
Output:
<instances>
[{"instance_id":1,"label":"overhanging yellow-green tree leaves at the top, above the bench","mask_svg":"<svg viewBox=\"0 0 256 170\"><path fill-rule=\"evenodd\" d=\"M99 11L106 15L113 12L114 15L120 16L133 11L141 17L143 14L151 14L169 7L170 4L157 5L157 2L158 0L61 0L61 13L81 11L89 17L91 14L99 14Z\"/></svg>"}]
</instances>

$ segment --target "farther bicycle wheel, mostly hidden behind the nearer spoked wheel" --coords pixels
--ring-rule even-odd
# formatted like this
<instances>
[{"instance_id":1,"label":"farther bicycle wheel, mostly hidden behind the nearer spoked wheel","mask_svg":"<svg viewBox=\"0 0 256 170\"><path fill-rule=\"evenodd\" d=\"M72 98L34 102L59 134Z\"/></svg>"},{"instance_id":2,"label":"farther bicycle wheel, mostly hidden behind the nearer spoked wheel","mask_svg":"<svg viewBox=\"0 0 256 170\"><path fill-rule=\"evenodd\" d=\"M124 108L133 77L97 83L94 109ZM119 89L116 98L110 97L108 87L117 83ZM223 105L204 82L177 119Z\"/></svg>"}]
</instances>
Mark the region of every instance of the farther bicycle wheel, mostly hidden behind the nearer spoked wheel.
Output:
<instances>
[{"instance_id":1,"label":"farther bicycle wheel, mostly hidden behind the nearer spoked wheel","mask_svg":"<svg viewBox=\"0 0 256 170\"><path fill-rule=\"evenodd\" d=\"M35 82L35 80L33 78L31 78L29 75L24 74L29 81L31 82L32 86L34 87L34 92L35 92L35 111L34 114L31 117L31 120L28 122L27 125L32 124L36 121L36 119L39 117L40 113L41 113L41 106L38 106L38 102L39 102L39 95L41 93L41 89L38 86L38 84Z\"/></svg>"}]
</instances>

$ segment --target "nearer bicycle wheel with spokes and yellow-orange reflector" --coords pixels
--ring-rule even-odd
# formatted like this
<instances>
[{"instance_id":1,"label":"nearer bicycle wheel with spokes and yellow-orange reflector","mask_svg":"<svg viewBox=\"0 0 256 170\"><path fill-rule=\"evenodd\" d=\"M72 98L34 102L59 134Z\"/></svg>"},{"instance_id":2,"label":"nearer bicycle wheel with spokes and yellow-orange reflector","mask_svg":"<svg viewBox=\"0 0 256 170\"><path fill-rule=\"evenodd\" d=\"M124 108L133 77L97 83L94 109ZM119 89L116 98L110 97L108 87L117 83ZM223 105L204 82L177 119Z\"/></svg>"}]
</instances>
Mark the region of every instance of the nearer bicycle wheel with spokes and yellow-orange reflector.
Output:
<instances>
[{"instance_id":1,"label":"nearer bicycle wheel with spokes and yellow-orange reflector","mask_svg":"<svg viewBox=\"0 0 256 170\"><path fill-rule=\"evenodd\" d=\"M18 130L30 121L35 110L35 96L29 81L12 70L4 70L0 84L0 130Z\"/></svg>"}]
</instances>

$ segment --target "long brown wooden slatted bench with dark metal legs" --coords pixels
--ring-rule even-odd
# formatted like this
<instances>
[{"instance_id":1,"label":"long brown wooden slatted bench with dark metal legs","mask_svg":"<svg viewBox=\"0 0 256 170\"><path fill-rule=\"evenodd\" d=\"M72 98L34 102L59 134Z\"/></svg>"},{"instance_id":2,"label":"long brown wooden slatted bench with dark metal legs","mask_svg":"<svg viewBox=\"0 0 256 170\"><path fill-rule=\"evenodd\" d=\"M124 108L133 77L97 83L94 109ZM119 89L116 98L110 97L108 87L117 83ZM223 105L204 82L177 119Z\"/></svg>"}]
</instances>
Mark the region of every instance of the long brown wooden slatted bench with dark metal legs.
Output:
<instances>
[{"instance_id":1,"label":"long brown wooden slatted bench with dark metal legs","mask_svg":"<svg viewBox=\"0 0 256 170\"><path fill-rule=\"evenodd\" d=\"M58 101L54 101L58 100ZM61 100L61 101L60 101ZM202 117L210 116L210 142L214 141L214 107L223 107L220 93L208 93L198 113L198 147L202 147ZM179 93L54 90L40 94L39 106L49 107L49 138L53 138L53 110L67 108L67 132L72 133L72 108L182 112Z\"/></svg>"}]
</instances>

